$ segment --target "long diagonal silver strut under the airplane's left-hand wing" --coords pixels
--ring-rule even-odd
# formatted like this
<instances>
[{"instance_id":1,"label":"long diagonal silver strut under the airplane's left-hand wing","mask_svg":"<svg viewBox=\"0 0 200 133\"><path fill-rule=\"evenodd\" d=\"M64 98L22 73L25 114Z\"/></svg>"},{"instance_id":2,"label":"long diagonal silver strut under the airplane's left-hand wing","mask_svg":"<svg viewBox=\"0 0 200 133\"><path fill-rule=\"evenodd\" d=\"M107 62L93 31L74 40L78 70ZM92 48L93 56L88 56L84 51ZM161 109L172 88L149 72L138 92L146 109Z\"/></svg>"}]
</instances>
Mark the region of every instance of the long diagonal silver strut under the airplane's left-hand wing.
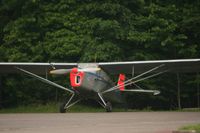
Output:
<instances>
[{"instance_id":1,"label":"long diagonal silver strut under the airplane's left-hand wing","mask_svg":"<svg viewBox=\"0 0 200 133\"><path fill-rule=\"evenodd\" d=\"M34 73L31 73L31 72L26 71L26 70L24 70L24 69L21 69L21 68L19 68L19 67L15 67L15 68L18 69L18 70L20 70L20 71L22 71L22 72L24 72L24 73L26 73L27 75L29 75L29 76L31 76L31 77L33 77L33 78L37 78L38 80L40 80L40 81L42 81L42 82L44 82L44 83L50 84L50 85L52 85L52 86L58 87L58 88L60 88L60 89L66 90L66 91L68 91L68 92L74 94L74 91L72 91L72 90L70 90L70 89L68 89L68 88L66 88L66 87L63 87L63 86L61 86L61 85L59 85L59 84L56 84L56 83L54 83L54 82L52 82L52 81L50 81L50 80L47 80L47 79L45 79L45 78L43 78L43 77L40 77L40 76L38 76L38 75L36 75L36 74L34 74Z\"/></svg>"}]
</instances>

